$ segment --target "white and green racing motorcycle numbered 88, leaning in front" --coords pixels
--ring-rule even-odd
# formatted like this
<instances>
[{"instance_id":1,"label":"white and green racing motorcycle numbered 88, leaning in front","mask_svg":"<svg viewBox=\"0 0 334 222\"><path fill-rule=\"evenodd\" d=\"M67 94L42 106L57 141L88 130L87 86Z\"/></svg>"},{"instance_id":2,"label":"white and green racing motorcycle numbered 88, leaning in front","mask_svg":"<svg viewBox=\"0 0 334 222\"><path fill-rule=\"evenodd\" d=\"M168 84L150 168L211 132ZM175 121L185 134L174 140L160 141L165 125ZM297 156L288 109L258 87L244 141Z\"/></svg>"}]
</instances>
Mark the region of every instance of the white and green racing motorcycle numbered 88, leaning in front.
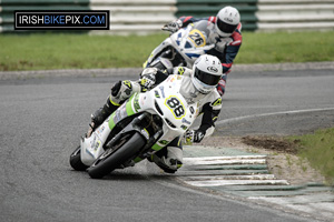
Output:
<instances>
[{"instance_id":1,"label":"white and green racing motorcycle numbered 88, leaning in front","mask_svg":"<svg viewBox=\"0 0 334 222\"><path fill-rule=\"evenodd\" d=\"M197 115L179 93L183 75L169 75L147 92L134 93L70 155L70 165L94 179L132 167L183 135Z\"/></svg>"}]
</instances>

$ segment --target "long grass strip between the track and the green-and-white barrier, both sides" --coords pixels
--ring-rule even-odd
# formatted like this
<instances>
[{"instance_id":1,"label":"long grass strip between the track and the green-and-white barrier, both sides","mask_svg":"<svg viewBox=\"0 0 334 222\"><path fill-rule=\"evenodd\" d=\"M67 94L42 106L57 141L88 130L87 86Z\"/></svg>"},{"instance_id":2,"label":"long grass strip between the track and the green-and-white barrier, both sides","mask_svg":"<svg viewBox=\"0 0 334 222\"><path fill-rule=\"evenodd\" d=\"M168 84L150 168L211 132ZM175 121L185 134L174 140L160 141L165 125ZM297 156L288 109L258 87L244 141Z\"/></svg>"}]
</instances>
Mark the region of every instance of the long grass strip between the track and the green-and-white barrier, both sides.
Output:
<instances>
[{"instance_id":1,"label":"long grass strip between the track and the green-and-white barrier, both sides","mask_svg":"<svg viewBox=\"0 0 334 222\"><path fill-rule=\"evenodd\" d=\"M334 61L334 31L243 33L236 63ZM167 33L0 34L0 71L141 67Z\"/></svg>"}]
</instances>

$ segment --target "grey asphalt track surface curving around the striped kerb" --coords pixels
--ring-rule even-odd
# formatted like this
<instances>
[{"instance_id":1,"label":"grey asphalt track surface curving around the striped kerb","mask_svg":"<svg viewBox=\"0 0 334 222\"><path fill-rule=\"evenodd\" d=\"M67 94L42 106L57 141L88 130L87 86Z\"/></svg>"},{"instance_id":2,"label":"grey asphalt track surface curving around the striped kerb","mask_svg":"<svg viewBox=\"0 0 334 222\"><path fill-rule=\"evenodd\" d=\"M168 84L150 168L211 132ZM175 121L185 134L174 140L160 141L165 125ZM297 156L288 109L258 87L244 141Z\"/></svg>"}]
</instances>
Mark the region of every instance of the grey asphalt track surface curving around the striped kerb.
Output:
<instances>
[{"instance_id":1,"label":"grey asphalt track surface curving around the striped kerb","mask_svg":"<svg viewBox=\"0 0 334 222\"><path fill-rule=\"evenodd\" d=\"M186 188L146 161L104 180L72 171L69 154L120 78L0 81L0 221L315 221ZM216 134L334 127L333 85L333 70L235 72Z\"/></svg>"}]
</instances>

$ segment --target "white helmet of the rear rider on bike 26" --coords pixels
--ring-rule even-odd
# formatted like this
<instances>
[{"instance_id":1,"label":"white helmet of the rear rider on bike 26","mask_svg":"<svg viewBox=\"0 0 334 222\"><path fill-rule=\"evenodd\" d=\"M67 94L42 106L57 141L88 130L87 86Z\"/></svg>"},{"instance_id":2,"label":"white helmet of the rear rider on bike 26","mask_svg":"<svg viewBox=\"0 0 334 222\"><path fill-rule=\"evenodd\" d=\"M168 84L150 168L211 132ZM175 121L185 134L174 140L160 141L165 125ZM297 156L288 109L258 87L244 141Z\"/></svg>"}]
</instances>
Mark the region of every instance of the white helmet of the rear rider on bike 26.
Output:
<instances>
[{"instance_id":1,"label":"white helmet of the rear rider on bike 26","mask_svg":"<svg viewBox=\"0 0 334 222\"><path fill-rule=\"evenodd\" d=\"M240 14L236 8L224 7L216 17L216 31L220 37L229 37L240 22Z\"/></svg>"}]
</instances>

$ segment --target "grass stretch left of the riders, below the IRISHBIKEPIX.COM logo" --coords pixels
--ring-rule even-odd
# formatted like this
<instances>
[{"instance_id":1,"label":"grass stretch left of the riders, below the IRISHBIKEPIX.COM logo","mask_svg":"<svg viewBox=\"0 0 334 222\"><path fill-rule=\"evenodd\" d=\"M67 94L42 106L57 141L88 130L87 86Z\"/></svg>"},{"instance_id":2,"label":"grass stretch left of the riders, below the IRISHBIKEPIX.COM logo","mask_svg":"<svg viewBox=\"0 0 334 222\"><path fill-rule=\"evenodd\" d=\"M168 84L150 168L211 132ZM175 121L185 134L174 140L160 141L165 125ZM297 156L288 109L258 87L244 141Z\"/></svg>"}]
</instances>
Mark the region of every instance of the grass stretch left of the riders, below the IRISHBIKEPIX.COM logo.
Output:
<instances>
[{"instance_id":1,"label":"grass stretch left of the riders, below the IRISHBIKEPIX.COM logo","mask_svg":"<svg viewBox=\"0 0 334 222\"><path fill-rule=\"evenodd\" d=\"M0 70L141 67L166 36L0 34Z\"/></svg>"}]
</instances>

